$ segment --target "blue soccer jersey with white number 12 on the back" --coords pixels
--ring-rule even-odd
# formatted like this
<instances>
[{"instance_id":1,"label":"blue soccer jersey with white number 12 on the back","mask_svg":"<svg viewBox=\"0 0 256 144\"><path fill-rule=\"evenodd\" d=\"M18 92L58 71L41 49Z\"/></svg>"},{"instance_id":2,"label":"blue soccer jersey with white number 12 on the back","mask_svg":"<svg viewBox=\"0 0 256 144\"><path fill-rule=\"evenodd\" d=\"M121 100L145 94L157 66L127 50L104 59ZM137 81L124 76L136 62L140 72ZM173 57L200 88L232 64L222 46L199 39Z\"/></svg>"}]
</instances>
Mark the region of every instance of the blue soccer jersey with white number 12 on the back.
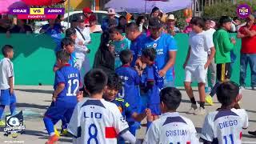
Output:
<instances>
[{"instance_id":1,"label":"blue soccer jersey with white number 12 on the back","mask_svg":"<svg viewBox=\"0 0 256 144\"><path fill-rule=\"evenodd\" d=\"M67 64L60 70L57 70L55 73L54 90L56 90L60 83L64 83L65 88L60 94L58 94L57 101L69 103L70 106L76 105L76 95L81 83L79 71L70 66L70 64Z\"/></svg>"}]
</instances>

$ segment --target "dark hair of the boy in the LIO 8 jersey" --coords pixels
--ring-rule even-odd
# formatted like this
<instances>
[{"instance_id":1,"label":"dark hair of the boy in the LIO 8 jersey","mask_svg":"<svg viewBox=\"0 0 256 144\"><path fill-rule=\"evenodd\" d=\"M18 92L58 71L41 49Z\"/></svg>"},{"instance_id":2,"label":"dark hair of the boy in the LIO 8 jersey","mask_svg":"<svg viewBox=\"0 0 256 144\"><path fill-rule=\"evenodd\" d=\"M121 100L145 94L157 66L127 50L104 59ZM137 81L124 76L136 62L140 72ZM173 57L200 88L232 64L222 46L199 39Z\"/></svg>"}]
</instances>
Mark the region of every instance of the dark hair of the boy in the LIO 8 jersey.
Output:
<instances>
[{"instance_id":1,"label":"dark hair of the boy in the LIO 8 jersey","mask_svg":"<svg viewBox=\"0 0 256 144\"><path fill-rule=\"evenodd\" d=\"M98 94L104 90L107 83L106 74L100 69L90 70L84 78L86 90L90 94Z\"/></svg>"}]
</instances>

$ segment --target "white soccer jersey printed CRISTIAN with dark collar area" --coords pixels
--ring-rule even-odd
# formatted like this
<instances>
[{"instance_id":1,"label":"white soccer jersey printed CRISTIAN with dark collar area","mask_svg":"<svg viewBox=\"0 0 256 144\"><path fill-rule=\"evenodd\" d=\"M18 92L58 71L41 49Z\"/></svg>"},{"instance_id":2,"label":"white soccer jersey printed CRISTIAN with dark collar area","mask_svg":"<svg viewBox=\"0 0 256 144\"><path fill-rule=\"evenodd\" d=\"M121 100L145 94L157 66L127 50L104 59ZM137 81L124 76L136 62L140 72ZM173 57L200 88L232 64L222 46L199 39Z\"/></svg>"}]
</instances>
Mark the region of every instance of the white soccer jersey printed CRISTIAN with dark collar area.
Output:
<instances>
[{"instance_id":1,"label":"white soccer jersey printed CRISTIAN with dark collar area","mask_svg":"<svg viewBox=\"0 0 256 144\"><path fill-rule=\"evenodd\" d=\"M146 144L198 144L198 134L190 119L175 113L165 113L152 122L146 133Z\"/></svg>"}]
</instances>

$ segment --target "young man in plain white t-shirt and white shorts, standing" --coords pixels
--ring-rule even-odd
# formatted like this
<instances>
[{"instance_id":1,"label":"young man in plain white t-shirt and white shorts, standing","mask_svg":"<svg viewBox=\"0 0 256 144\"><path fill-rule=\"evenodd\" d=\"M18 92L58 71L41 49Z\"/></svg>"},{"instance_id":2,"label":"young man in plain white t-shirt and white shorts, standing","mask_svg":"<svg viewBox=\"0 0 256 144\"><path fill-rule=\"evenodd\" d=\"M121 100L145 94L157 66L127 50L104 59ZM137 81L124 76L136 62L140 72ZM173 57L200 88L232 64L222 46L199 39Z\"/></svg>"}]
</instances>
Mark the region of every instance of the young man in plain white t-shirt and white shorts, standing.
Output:
<instances>
[{"instance_id":1,"label":"young man in plain white t-shirt and white shorts, standing","mask_svg":"<svg viewBox=\"0 0 256 144\"><path fill-rule=\"evenodd\" d=\"M191 108L190 114L205 114L205 83L207 69L210 65L210 62L214 58L215 48L214 42L209 35L206 35L206 32L203 29L205 22L202 18L194 17L191 19L190 24L193 31L189 34L189 43L190 48L186 56L186 62L183 65L185 69L186 78L185 78L185 89L186 94L190 97ZM210 50L210 56L208 57L208 51ZM200 98L200 107L198 108L197 102L194 99L193 90L191 87L191 82L198 82L198 91Z\"/></svg>"}]
</instances>

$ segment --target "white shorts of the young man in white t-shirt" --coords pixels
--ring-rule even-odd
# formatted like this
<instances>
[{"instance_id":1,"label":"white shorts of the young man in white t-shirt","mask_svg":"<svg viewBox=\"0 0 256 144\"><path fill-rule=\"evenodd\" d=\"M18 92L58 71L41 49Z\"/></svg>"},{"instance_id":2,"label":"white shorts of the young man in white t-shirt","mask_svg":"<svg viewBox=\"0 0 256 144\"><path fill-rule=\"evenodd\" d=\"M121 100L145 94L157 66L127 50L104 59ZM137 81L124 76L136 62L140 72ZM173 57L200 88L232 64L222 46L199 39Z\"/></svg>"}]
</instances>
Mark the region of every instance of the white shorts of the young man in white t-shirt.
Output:
<instances>
[{"instance_id":1,"label":"white shorts of the young man in white t-shirt","mask_svg":"<svg viewBox=\"0 0 256 144\"><path fill-rule=\"evenodd\" d=\"M206 83L207 69L203 65L186 66L185 75L185 82Z\"/></svg>"}]
</instances>

